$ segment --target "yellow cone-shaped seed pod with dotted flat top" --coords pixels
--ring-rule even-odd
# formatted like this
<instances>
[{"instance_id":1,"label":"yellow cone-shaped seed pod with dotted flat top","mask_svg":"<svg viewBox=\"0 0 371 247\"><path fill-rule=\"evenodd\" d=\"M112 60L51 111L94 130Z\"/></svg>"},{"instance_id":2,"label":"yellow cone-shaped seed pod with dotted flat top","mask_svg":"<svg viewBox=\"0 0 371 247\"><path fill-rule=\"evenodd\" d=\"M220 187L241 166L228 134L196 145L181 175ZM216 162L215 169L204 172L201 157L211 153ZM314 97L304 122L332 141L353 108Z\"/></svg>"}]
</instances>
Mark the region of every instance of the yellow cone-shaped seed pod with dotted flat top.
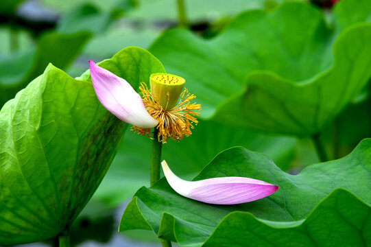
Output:
<instances>
[{"instance_id":1,"label":"yellow cone-shaped seed pod with dotted flat top","mask_svg":"<svg viewBox=\"0 0 371 247\"><path fill-rule=\"evenodd\" d=\"M154 73L149 77L149 83L152 95L158 99L158 104L168 110L176 106L185 80L178 75Z\"/></svg>"}]
</instances>

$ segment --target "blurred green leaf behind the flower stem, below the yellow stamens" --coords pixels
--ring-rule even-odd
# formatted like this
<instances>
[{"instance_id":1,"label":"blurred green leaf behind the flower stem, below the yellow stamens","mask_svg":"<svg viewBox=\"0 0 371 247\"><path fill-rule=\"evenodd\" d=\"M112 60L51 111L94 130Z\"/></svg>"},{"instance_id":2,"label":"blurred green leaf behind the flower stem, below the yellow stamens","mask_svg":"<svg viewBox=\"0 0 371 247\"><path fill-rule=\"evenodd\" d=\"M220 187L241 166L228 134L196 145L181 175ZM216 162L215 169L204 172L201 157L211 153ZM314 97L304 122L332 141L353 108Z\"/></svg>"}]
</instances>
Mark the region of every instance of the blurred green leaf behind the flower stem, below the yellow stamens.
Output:
<instances>
[{"instance_id":1,"label":"blurred green leaf behind the flower stem, below the yellow stamens","mask_svg":"<svg viewBox=\"0 0 371 247\"><path fill-rule=\"evenodd\" d=\"M176 164L179 160L187 164L176 165L173 171L193 178L217 153L241 145L269 155L286 170L294 158L296 142L290 137L270 137L213 121L200 121L190 137L164 144L162 157L169 164ZM149 185L151 146L152 140L148 137L132 131L125 134L110 170L93 197L115 207L131 198L143 185Z\"/></svg>"}]
</instances>

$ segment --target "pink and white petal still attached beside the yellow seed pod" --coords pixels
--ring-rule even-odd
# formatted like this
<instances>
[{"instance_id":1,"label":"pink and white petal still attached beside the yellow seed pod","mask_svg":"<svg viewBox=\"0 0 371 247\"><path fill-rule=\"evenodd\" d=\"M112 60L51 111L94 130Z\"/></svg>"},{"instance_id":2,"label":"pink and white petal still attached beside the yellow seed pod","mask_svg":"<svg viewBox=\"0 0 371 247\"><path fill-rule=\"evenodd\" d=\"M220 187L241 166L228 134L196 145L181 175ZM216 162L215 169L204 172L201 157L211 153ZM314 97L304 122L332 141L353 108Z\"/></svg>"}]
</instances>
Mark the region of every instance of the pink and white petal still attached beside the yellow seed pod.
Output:
<instances>
[{"instance_id":1,"label":"pink and white petal still attached beside the yellow seed pod","mask_svg":"<svg viewBox=\"0 0 371 247\"><path fill-rule=\"evenodd\" d=\"M141 95L128 82L89 61L91 80L99 102L113 115L141 128L154 128L158 121L145 108Z\"/></svg>"}]
</instances>

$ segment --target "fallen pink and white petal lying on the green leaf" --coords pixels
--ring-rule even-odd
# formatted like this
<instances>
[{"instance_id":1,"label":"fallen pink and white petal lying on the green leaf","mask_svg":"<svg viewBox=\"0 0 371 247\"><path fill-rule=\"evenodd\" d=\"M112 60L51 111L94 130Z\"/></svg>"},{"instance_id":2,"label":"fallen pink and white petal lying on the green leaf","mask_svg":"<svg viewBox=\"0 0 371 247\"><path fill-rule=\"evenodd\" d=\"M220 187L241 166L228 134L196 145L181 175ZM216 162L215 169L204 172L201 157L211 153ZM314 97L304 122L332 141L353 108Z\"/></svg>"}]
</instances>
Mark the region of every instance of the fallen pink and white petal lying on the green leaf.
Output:
<instances>
[{"instance_id":1,"label":"fallen pink and white petal lying on the green leaf","mask_svg":"<svg viewBox=\"0 0 371 247\"><path fill-rule=\"evenodd\" d=\"M239 204L270 196L278 186L261 180L243 177L209 178L186 181L178 178L167 165L161 163L167 182L180 195L210 204Z\"/></svg>"}]
</instances>

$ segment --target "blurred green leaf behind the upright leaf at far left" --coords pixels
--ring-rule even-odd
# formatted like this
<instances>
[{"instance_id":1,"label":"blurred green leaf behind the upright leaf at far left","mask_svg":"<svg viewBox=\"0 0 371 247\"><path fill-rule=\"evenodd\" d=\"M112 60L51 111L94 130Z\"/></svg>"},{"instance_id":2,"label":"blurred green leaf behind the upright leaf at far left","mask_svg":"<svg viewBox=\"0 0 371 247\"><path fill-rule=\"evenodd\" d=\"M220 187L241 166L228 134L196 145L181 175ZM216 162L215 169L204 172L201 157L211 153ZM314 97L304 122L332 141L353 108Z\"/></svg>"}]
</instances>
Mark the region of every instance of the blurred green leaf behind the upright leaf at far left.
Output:
<instances>
[{"instance_id":1,"label":"blurred green leaf behind the upright leaf at far left","mask_svg":"<svg viewBox=\"0 0 371 247\"><path fill-rule=\"evenodd\" d=\"M61 69L67 67L80 53L89 37L84 32L47 33L38 40L36 49L0 60L0 106L43 73L49 62Z\"/></svg>"}]
</instances>

